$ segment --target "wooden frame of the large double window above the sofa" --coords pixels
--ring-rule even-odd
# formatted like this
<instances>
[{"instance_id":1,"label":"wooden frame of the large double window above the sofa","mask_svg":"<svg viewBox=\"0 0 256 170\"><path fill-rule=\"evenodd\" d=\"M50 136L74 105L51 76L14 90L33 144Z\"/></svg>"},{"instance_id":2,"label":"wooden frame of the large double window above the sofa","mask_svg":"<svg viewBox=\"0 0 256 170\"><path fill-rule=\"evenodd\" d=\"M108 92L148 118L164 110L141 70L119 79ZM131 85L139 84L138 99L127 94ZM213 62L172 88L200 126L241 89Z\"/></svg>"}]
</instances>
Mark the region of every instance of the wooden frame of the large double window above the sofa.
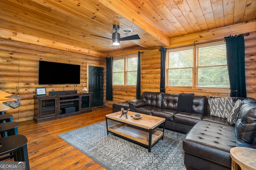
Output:
<instances>
[{"instance_id":1,"label":"wooden frame of the large double window above the sofa","mask_svg":"<svg viewBox=\"0 0 256 170\"><path fill-rule=\"evenodd\" d=\"M209 45L218 45L218 44L226 44L226 42L224 40L220 40L220 41L214 41L214 42L210 42L210 43L199 43L199 44L194 44L194 45L188 45L186 47L177 47L177 48L173 48L173 49L167 49L166 51L166 69L165 69L165 78L166 78L166 82L165 82L165 86L166 88L194 88L194 89L223 89L223 90L229 90L230 87L206 87L206 86L198 86L198 78L197 78L197 74L198 74L198 68L200 67L205 67L205 66L198 66L198 47L204 47L204 46L209 46ZM168 55L170 51L180 51L180 50L186 50L186 49L191 49L193 48L193 66L192 66L192 86L169 86L168 85ZM227 64L222 64L222 65L226 65ZM217 66L217 65L216 65ZM220 65L218 65L220 66Z\"/></svg>"}]
</instances>

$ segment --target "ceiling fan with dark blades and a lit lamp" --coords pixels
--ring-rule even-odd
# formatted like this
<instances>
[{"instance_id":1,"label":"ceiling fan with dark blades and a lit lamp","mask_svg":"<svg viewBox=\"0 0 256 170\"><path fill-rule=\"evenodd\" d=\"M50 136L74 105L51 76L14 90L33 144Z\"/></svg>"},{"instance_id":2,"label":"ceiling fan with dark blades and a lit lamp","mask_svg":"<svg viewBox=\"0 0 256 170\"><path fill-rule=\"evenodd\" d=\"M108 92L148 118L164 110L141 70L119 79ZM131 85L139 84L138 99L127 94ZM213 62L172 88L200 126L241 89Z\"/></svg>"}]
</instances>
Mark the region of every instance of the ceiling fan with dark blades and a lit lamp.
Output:
<instances>
[{"instance_id":1,"label":"ceiling fan with dark blades and a lit lamp","mask_svg":"<svg viewBox=\"0 0 256 170\"><path fill-rule=\"evenodd\" d=\"M138 34L120 38L120 33L117 32L120 29L119 25L113 25L113 29L115 30L115 32L112 34L112 38L102 37L100 35L94 35L94 34L90 34L90 35L106 38L106 39L112 39L112 43L115 46L115 49L120 48L120 41L140 39Z\"/></svg>"}]
</instances>

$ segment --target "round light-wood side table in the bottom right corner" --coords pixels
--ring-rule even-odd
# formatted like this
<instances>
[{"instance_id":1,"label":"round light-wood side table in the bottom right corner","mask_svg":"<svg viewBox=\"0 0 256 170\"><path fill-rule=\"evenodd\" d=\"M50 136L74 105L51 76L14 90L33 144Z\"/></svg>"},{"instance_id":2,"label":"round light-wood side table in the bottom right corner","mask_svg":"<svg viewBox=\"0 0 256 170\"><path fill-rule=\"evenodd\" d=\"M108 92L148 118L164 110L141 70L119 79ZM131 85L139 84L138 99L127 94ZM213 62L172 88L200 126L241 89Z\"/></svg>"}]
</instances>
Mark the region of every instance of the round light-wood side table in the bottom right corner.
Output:
<instances>
[{"instance_id":1,"label":"round light-wood side table in the bottom right corner","mask_svg":"<svg viewBox=\"0 0 256 170\"><path fill-rule=\"evenodd\" d=\"M246 147L234 147L230 149L232 158L232 170L256 170L256 149Z\"/></svg>"}]
</instances>

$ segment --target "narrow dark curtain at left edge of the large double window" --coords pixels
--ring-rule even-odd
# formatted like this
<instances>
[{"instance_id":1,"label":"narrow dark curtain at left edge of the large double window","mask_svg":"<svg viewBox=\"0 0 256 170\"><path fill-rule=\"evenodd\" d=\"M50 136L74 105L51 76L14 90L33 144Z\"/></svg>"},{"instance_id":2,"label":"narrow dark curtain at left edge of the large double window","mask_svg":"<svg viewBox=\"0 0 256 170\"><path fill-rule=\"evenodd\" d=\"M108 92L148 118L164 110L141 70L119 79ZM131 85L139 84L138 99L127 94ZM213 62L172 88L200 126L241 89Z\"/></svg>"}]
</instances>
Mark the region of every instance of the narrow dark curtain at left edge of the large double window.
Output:
<instances>
[{"instance_id":1,"label":"narrow dark curtain at left edge of the large double window","mask_svg":"<svg viewBox=\"0 0 256 170\"><path fill-rule=\"evenodd\" d=\"M161 47L159 49L161 52L161 70L160 70L160 92L165 92L165 58L166 58L166 48Z\"/></svg>"}]
</instances>

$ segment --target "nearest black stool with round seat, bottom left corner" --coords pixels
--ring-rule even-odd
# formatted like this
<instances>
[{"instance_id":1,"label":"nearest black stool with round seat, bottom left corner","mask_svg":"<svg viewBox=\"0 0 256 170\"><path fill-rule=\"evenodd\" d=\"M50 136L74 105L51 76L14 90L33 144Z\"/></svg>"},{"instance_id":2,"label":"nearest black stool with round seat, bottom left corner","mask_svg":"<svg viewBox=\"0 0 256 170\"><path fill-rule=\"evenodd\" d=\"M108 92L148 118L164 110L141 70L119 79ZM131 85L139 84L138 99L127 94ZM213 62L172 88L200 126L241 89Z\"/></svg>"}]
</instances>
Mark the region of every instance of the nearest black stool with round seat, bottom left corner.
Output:
<instances>
[{"instance_id":1,"label":"nearest black stool with round seat, bottom left corner","mask_svg":"<svg viewBox=\"0 0 256 170\"><path fill-rule=\"evenodd\" d=\"M14 152L14 161L25 161L26 170L30 170L28 161L28 139L24 135L12 135L0 138L0 156ZM5 156L0 161L5 160Z\"/></svg>"}]
</instances>

